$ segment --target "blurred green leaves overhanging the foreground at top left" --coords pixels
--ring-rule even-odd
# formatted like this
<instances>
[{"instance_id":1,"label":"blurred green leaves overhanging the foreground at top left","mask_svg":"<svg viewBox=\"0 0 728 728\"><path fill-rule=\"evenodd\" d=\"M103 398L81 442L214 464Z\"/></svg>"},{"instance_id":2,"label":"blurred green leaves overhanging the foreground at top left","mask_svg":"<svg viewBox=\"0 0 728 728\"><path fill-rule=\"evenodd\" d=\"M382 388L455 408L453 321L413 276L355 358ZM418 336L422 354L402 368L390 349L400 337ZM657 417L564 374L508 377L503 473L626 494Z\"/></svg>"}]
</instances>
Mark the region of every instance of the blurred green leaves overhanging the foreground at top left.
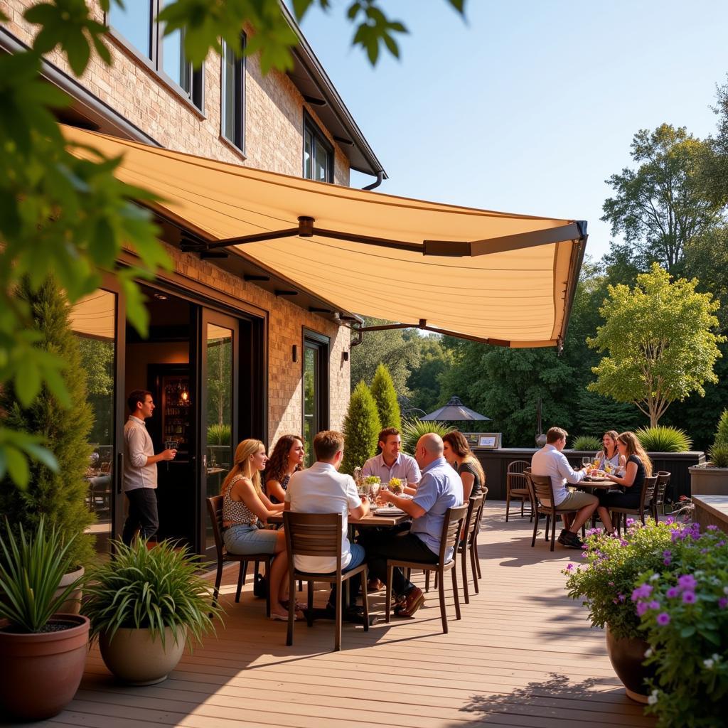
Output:
<instances>
[{"instance_id":1,"label":"blurred green leaves overhanging the foreground at top left","mask_svg":"<svg viewBox=\"0 0 728 728\"><path fill-rule=\"evenodd\" d=\"M108 12L110 0L99 1ZM447 1L462 14L464 0ZM314 4L325 9L329 3L294 0L298 20ZM172 265L157 240L159 230L151 213L137 204L149 205L156 196L116 180L121 159L106 159L66 143L54 112L67 107L70 99L41 79L44 55L59 46L76 76L86 70L92 51L111 64L108 28L92 17L95 9L90 5L84 0L33 5L23 13L24 21L39 30L32 47L0 56L0 387L12 384L23 407L33 403L42 386L60 405L71 405L60 376L63 361L35 346L42 336L33 328L28 306L15 296L23 276L38 292L53 272L74 304L98 288L101 270L111 271L124 291L130 323L145 335L147 313L135 280L151 280L159 268ZM377 0L353 0L347 17L355 25L353 44L365 50L371 63L380 47L399 55L395 36L406 28L384 15ZM7 20L0 12L0 22ZM293 68L291 48L298 40L279 0L178 0L165 6L159 20L167 35L184 29L186 57L196 68L210 50L221 52L221 39L238 54L243 52L240 28L245 23L253 33L244 52L260 53L264 72ZM116 258L127 243L138 254L139 264L118 268ZM58 467L38 438L7 424L0 427L0 478L7 473L24 487L27 459L39 457L48 467Z\"/></svg>"}]
</instances>

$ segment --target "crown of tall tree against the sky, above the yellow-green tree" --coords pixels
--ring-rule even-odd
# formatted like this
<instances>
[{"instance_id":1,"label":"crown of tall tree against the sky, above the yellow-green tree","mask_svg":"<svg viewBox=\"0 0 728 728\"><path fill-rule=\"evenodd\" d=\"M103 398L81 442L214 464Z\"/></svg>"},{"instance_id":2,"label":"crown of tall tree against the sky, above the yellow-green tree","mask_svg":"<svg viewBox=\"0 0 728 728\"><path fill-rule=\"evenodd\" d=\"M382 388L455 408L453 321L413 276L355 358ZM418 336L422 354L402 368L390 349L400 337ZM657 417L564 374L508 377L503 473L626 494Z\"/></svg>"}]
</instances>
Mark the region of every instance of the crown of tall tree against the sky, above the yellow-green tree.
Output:
<instances>
[{"instance_id":1,"label":"crown of tall tree against the sky, above the yellow-green tree","mask_svg":"<svg viewBox=\"0 0 728 728\"><path fill-rule=\"evenodd\" d=\"M613 235L623 234L648 259L676 272L689 241L723 221L723 205L704 194L708 145L685 127L662 124L638 131L631 146L639 166L606 180L616 194L604 202L601 219Z\"/></svg>"}]
</instances>

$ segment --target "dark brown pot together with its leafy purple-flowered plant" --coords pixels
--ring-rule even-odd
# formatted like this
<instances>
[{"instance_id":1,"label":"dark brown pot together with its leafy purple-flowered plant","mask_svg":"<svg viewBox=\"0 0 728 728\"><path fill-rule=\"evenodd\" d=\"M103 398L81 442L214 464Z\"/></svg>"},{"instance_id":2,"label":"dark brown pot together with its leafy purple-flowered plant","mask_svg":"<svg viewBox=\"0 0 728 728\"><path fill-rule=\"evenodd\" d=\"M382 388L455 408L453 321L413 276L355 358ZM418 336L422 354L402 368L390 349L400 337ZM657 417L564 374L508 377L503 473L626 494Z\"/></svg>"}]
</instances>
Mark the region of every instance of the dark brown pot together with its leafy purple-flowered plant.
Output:
<instances>
[{"instance_id":1,"label":"dark brown pot together with its leafy purple-flowered plant","mask_svg":"<svg viewBox=\"0 0 728 728\"><path fill-rule=\"evenodd\" d=\"M627 695L646 703L649 677L642 662L649 648L641 626L638 605L633 592L640 575L649 569L657 572L669 569L665 553L672 544L672 534L680 526L672 522L646 526L630 524L623 537L607 536L602 531L590 531L585 539L583 566L569 563L566 589L574 599L581 598L589 608L589 619L595 627L606 626L606 647L614 672L625 684ZM640 608L641 609L641 608Z\"/></svg>"}]
</instances>

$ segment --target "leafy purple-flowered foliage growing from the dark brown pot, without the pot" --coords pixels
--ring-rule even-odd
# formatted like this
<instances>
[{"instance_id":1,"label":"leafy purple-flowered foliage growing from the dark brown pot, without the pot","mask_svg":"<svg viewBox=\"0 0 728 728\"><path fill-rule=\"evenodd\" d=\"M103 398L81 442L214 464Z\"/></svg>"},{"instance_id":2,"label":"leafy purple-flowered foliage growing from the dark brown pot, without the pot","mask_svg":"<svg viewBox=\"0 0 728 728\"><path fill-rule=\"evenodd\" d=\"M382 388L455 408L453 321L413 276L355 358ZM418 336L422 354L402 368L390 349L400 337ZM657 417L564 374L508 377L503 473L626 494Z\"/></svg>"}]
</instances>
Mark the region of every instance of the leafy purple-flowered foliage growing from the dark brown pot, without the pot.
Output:
<instances>
[{"instance_id":1,"label":"leafy purple-flowered foliage growing from the dark brown pot, without the pot","mask_svg":"<svg viewBox=\"0 0 728 728\"><path fill-rule=\"evenodd\" d=\"M677 523L638 521L622 539L590 531L585 539L586 564L566 566L563 574L572 599L582 599L593 627L609 625L617 638L643 637L631 596L638 577L646 570L670 569L664 552L670 548Z\"/></svg>"}]
</instances>

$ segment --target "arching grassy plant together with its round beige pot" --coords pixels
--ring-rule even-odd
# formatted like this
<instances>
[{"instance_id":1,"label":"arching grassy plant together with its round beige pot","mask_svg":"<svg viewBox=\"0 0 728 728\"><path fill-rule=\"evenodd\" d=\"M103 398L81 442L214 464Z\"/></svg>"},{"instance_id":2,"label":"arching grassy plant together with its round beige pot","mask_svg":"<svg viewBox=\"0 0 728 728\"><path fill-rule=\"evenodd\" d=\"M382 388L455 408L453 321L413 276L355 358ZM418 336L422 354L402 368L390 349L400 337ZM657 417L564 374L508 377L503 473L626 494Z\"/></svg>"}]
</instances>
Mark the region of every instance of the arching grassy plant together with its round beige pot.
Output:
<instances>
[{"instance_id":1,"label":"arching grassy plant together with its round beige pot","mask_svg":"<svg viewBox=\"0 0 728 728\"><path fill-rule=\"evenodd\" d=\"M92 570L84 614L106 667L132 685L162 682L185 645L213 629L220 613L199 557L170 542L114 542L116 557Z\"/></svg>"}]
</instances>

